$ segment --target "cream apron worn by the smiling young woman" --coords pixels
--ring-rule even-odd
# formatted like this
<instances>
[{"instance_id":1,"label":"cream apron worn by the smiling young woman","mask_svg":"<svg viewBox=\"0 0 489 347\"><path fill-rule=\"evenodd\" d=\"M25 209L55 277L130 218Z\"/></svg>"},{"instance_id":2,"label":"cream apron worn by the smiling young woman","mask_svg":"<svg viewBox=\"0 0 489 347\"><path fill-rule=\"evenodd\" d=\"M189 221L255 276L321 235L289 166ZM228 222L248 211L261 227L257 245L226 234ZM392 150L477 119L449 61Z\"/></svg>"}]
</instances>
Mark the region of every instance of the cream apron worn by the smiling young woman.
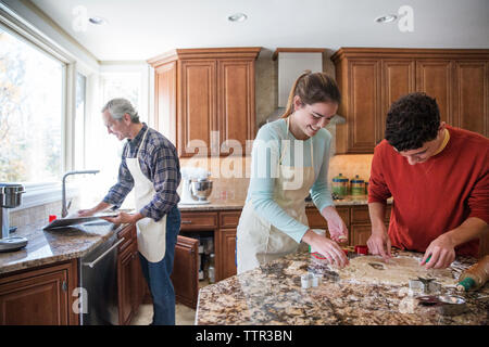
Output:
<instances>
[{"instance_id":1,"label":"cream apron worn by the smiling young woman","mask_svg":"<svg viewBox=\"0 0 489 347\"><path fill-rule=\"evenodd\" d=\"M287 137L289 136L289 118L287 118ZM283 165L287 151L286 141L280 153L278 178L275 179L274 201L290 217L309 226L305 216L305 201L314 184L314 151L311 141L311 167ZM302 179L300 179L302 177ZM299 184L294 181L299 178ZM242 209L237 229L238 273L256 268L261 264L284 257L298 250L299 245L292 237L281 232L267 220L261 218L249 200Z\"/></svg>"}]
</instances>

